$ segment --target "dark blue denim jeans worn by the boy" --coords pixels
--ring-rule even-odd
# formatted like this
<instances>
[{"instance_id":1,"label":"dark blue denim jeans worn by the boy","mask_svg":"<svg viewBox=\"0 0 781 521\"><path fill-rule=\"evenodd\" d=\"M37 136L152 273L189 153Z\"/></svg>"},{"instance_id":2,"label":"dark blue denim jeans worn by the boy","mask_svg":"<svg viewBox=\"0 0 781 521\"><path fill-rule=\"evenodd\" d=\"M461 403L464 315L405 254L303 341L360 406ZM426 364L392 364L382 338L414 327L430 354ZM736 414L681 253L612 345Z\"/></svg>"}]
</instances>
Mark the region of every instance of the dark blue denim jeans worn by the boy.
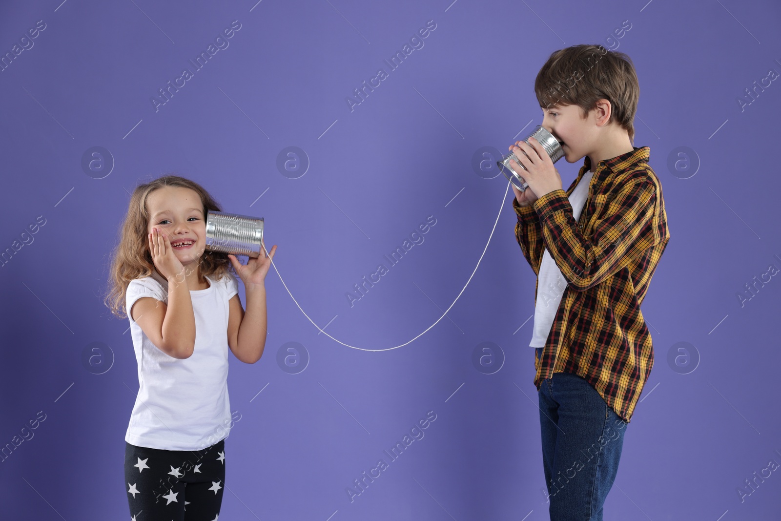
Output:
<instances>
[{"instance_id":1,"label":"dark blue denim jeans worn by the boy","mask_svg":"<svg viewBox=\"0 0 781 521\"><path fill-rule=\"evenodd\" d=\"M554 373L538 394L551 521L601 521L627 424L576 374Z\"/></svg>"}]
</instances>

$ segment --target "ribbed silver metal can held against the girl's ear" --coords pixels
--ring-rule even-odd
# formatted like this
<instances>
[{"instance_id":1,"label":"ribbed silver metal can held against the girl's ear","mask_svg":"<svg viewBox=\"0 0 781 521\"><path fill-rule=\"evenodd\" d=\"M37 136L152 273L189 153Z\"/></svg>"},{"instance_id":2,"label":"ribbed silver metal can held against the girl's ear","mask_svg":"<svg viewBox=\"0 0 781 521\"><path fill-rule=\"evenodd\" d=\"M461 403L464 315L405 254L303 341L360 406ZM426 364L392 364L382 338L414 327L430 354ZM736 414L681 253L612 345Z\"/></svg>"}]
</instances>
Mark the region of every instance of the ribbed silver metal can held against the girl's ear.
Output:
<instances>
[{"instance_id":1,"label":"ribbed silver metal can held against the girl's ear","mask_svg":"<svg viewBox=\"0 0 781 521\"><path fill-rule=\"evenodd\" d=\"M259 257L262 240L262 217L213 210L206 216L206 249L212 252Z\"/></svg>"}]
</instances>

